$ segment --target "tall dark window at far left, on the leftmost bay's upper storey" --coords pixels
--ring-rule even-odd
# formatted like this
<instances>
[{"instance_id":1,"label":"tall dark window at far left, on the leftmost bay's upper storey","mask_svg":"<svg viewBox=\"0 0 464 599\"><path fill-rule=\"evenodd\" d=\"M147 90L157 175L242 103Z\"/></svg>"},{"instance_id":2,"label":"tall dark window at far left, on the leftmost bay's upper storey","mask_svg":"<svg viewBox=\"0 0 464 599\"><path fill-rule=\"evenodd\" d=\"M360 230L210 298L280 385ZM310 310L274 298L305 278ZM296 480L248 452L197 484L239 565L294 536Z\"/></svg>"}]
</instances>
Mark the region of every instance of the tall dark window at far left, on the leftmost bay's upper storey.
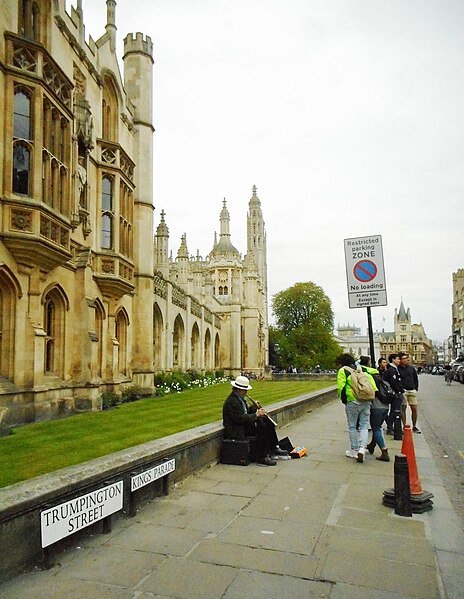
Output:
<instances>
[{"instance_id":1,"label":"tall dark window at far left, on the leftmost bay's upper storey","mask_svg":"<svg viewBox=\"0 0 464 599\"><path fill-rule=\"evenodd\" d=\"M13 191L29 195L32 164L32 118L29 90L16 87L13 107Z\"/></svg>"}]
</instances>

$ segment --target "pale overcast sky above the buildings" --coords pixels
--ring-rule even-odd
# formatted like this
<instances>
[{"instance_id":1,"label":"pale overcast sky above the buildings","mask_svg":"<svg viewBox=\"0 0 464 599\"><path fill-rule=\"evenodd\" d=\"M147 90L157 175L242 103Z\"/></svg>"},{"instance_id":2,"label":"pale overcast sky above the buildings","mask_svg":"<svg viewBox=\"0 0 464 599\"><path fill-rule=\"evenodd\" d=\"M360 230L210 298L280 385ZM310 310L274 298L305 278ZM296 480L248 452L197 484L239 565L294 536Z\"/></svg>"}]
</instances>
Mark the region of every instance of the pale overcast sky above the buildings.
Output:
<instances>
[{"instance_id":1,"label":"pale overcast sky above the buildings","mask_svg":"<svg viewBox=\"0 0 464 599\"><path fill-rule=\"evenodd\" d=\"M73 2L75 5L75 1ZM69 7L70 3L67 2ZM106 3L84 0L86 34ZM206 256L225 197L246 252L252 187L264 214L270 299L313 281L335 325L348 307L345 238L382 236L393 330L451 333L452 273L464 267L462 0L118 0L127 33L154 44L155 226Z\"/></svg>"}]
</instances>

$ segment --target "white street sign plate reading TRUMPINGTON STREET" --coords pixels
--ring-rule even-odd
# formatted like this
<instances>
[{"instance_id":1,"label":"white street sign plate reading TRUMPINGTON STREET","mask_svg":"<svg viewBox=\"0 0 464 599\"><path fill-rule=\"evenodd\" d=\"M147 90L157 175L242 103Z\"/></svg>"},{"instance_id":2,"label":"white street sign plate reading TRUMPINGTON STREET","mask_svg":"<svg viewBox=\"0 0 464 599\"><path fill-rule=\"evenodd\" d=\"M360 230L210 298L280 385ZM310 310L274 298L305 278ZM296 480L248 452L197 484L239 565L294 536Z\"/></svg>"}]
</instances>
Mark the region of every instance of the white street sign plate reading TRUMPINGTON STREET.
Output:
<instances>
[{"instance_id":1,"label":"white street sign plate reading TRUMPINGTON STREET","mask_svg":"<svg viewBox=\"0 0 464 599\"><path fill-rule=\"evenodd\" d=\"M40 513L42 547L122 509L122 480Z\"/></svg>"}]
</instances>

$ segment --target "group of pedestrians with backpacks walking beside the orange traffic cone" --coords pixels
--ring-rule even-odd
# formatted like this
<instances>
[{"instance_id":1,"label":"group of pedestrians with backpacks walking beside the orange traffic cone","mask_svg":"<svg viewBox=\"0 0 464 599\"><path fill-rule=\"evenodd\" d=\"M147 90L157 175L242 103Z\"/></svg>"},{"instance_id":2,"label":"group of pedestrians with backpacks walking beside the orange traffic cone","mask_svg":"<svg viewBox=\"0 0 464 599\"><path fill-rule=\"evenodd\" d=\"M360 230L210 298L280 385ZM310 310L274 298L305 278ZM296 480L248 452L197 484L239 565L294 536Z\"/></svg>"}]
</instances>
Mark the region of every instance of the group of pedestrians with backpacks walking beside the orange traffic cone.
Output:
<instances>
[{"instance_id":1,"label":"group of pedestrians with backpacks walking beside the orange traffic cone","mask_svg":"<svg viewBox=\"0 0 464 599\"><path fill-rule=\"evenodd\" d=\"M384 423L387 435L393 436L395 427L402 432L409 405L412 430L416 434L421 433L417 426L419 377L410 364L409 355L404 352L390 354L388 362L385 358L379 358L378 368L370 367L369 361L369 357L361 356L356 362L351 354L341 354L337 358L337 392L345 404L350 440L350 448L345 455L362 463L366 451L373 454L378 445L381 453L376 459L389 462ZM361 398L359 373L363 373L361 376L365 376L371 385L372 399ZM372 431L372 438L368 442L369 430Z\"/></svg>"}]
</instances>

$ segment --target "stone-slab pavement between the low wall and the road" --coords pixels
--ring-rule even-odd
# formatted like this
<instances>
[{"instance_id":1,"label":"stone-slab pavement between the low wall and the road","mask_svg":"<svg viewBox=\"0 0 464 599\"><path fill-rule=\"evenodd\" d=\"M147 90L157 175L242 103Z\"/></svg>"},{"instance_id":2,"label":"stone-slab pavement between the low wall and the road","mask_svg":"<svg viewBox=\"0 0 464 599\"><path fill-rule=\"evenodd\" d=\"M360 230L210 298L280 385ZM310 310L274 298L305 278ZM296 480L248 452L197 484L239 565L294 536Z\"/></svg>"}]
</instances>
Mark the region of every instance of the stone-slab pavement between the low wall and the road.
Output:
<instances>
[{"instance_id":1,"label":"stone-slab pavement between the low wall and the road","mask_svg":"<svg viewBox=\"0 0 464 599\"><path fill-rule=\"evenodd\" d=\"M343 407L280 431L309 456L275 467L218 464L169 496L58 556L48 571L0 586L3 599L394 599L464 597L464 540L426 435L415 435L434 509L382 505L393 464L345 457ZM401 441L389 441L392 456ZM378 451L378 450L377 450Z\"/></svg>"}]
</instances>

